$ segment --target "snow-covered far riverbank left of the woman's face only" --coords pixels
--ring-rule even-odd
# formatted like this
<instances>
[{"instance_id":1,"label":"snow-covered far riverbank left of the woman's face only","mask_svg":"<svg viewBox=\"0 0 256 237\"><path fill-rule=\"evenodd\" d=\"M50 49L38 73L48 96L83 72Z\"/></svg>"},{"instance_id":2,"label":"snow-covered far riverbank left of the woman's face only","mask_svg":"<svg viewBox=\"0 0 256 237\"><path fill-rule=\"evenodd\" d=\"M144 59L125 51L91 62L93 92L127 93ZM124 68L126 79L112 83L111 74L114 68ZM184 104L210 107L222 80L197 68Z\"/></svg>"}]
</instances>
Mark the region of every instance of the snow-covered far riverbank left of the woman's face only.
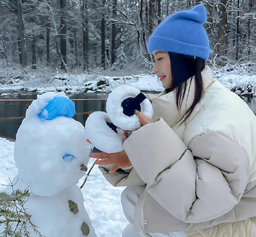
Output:
<instances>
[{"instance_id":1,"label":"snow-covered far riverbank left of the woman's face only","mask_svg":"<svg viewBox=\"0 0 256 237\"><path fill-rule=\"evenodd\" d=\"M120 73L121 74L121 73ZM131 74L131 73L129 73ZM67 74L50 70L7 70L0 72L0 90L25 90L40 93L109 93L118 85L133 85L140 90L161 91L156 75L103 76L100 74ZM6 94L2 94L6 96Z\"/></svg>"}]
</instances>

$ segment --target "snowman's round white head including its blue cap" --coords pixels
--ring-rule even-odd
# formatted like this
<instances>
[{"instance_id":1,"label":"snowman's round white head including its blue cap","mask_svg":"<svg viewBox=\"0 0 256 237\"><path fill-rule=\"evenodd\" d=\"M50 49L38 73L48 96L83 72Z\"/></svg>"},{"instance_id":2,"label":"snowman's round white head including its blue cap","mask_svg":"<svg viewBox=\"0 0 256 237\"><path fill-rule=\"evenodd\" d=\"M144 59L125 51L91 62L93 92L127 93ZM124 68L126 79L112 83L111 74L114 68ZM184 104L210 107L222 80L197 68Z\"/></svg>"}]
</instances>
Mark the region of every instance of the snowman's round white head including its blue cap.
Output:
<instances>
[{"instance_id":1,"label":"snowman's round white head including its blue cap","mask_svg":"<svg viewBox=\"0 0 256 237\"><path fill-rule=\"evenodd\" d=\"M74 103L65 93L37 96L17 132L14 159L19 177L35 195L56 195L84 175L92 147L82 124L71 117Z\"/></svg>"}]
</instances>

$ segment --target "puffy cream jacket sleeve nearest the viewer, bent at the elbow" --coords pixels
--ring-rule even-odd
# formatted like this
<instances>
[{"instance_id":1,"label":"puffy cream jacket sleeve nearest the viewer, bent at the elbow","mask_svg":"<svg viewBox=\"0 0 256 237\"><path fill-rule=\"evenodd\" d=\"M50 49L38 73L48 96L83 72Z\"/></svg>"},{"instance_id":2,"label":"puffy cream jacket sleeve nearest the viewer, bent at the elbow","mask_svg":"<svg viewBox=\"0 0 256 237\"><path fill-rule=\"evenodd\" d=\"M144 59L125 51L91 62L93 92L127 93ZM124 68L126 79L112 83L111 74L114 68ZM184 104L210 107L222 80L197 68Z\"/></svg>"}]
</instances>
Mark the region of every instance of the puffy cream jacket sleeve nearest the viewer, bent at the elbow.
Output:
<instances>
[{"instance_id":1,"label":"puffy cream jacket sleeve nearest the viewer, bent at the elbow","mask_svg":"<svg viewBox=\"0 0 256 237\"><path fill-rule=\"evenodd\" d=\"M147 192L186 223L229 212L247 185L247 153L220 134L197 136L188 148L160 119L133 132L124 148Z\"/></svg>"}]
</instances>

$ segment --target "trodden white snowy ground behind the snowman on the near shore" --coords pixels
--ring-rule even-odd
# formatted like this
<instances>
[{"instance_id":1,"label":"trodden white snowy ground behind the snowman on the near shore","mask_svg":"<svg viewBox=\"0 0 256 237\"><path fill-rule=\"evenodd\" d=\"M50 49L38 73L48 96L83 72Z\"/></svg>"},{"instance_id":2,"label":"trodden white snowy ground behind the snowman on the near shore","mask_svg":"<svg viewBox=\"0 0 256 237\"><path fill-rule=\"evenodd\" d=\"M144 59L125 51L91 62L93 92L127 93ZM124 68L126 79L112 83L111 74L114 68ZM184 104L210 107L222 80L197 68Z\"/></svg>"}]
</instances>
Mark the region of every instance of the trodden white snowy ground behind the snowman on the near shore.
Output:
<instances>
[{"instance_id":1,"label":"trodden white snowy ground behind the snowman on the near shore","mask_svg":"<svg viewBox=\"0 0 256 237\"><path fill-rule=\"evenodd\" d=\"M0 192L18 173L14 162L14 142L0 138ZM92 166L94 159L89 161ZM84 177L79 180L79 186ZM95 166L82 188L84 206L92 220L98 237L120 237L127 220L120 205L122 187L112 187Z\"/></svg>"}]
</instances>

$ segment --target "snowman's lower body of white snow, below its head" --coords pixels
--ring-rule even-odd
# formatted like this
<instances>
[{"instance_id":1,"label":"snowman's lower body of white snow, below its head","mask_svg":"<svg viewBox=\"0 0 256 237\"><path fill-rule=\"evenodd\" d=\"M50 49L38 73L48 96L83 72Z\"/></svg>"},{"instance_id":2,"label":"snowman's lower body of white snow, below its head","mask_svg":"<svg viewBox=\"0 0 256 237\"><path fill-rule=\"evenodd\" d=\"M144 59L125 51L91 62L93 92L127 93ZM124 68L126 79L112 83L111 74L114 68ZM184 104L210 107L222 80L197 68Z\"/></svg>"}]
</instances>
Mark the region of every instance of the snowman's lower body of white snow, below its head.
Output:
<instances>
[{"instance_id":1,"label":"snowman's lower body of white snow, below its head","mask_svg":"<svg viewBox=\"0 0 256 237\"><path fill-rule=\"evenodd\" d=\"M15 184L14 189L19 190L26 190L29 187L19 175L14 177L12 184ZM12 188L7 187L4 191L12 192ZM73 204L75 208L69 203ZM52 196L39 196L31 192L24 207L26 212L32 215L32 223L38 226L37 230L45 237L82 237L81 226L83 223L86 223L84 225L87 225L87 228L89 227L87 236L97 237L84 208L82 192L76 185L67 187ZM72 211L71 208L73 208ZM27 226L27 230L30 231L31 237L37 237L30 226Z\"/></svg>"}]
</instances>

